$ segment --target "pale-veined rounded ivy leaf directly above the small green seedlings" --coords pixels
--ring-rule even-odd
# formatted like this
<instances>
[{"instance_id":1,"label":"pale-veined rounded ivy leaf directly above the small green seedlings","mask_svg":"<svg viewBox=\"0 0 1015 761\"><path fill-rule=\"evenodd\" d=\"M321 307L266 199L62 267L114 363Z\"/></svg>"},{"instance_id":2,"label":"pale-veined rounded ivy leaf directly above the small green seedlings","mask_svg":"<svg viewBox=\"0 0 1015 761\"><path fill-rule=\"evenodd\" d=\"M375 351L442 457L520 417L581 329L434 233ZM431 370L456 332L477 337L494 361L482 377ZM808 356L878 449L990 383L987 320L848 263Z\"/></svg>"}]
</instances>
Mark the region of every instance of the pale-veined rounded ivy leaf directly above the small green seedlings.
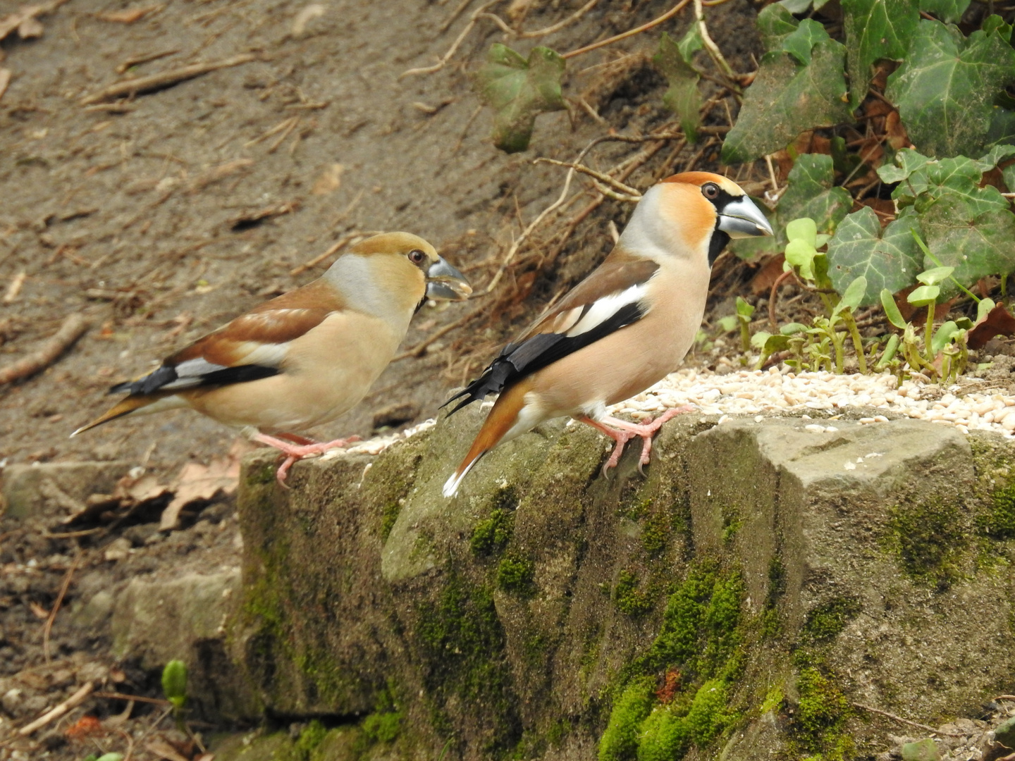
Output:
<instances>
[{"instance_id":1,"label":"pale-veined rounded ivy leaf directly above the small green seedlings","mask_svg":"<svg viewBox=\"0 0 1015 761\"><path fill-rule=\"evenodd\" d=\"M860 304L878 303L882 288L892 293L912 285L923 254L909 232L909 219L896 219L884 232L874 210L865 206L839 222L828 241L828 276L839 293L857 277L867 278Z\"/></svg>"}]
</instances>

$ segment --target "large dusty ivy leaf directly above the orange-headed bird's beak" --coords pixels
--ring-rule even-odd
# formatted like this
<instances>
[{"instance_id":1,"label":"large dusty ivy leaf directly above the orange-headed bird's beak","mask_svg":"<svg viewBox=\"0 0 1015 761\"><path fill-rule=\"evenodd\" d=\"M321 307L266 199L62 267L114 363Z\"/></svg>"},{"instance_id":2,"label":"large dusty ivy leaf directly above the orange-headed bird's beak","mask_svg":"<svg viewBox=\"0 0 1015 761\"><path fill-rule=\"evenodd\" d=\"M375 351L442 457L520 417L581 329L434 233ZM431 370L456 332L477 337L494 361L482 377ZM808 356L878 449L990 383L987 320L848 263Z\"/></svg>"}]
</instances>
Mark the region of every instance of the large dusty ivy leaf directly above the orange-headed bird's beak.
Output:
<instances>
[{"instance_id":1,"label":"large dusty ivy leaf directly above the orange-headed bird's beak","mask_svg":"<svg viewBox=\"0 0 1015 761\"><path fill-rule=\"evenodd\" d=\"M834 40L814 46L805 66L787 53L765 54L723 143L723 163L752 161L783 148L804 130L849 121L844 69L845 48Z\"/></svg>"}]
</instances>

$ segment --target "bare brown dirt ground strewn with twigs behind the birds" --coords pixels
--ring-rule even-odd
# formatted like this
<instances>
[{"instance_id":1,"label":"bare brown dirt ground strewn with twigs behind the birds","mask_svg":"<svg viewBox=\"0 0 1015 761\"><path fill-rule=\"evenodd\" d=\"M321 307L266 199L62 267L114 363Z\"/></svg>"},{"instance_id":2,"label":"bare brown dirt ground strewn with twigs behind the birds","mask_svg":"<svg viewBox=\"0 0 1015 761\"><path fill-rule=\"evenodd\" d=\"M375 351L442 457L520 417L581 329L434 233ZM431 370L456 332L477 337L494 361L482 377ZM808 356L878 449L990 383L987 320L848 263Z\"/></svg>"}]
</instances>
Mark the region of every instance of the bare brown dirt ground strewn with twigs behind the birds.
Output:
<instances>
[{"instance_id":1,"label":"bare brown dirt ground strewn with twigs behind the birds","mask_svg":"<svg viewBox=\"0 0 1015 761\"><path fill-rule=\"evenodd\" d=\"M492 10L520 28L540 29L583 4L515 0ZM394 362L362 404L316 433L367 436L432 416L449 390L601 260L612 246L609 223L622 227L629 213L615 201L592 203L598 194L576 180L574 201L533 234L484 294L512 241L562 186L560 168L532 159L572 159L611 130L646 134L673 121L661 102L666 82L649 63L658 34L572 62L567 91L581 92L589 108L572 100L567 111L540 116L530 149L520 154L491 144L490 112L480 108L472 80L493 42L523 53L534 44L576 49L655 18L669 7L659 0L601 2L537 41L512 41L480 19L441 71L408 77L400 75L445 55L478 3L51 5L39 16L41 36L11 33L0 42L0 69L11 74L0 95L0 368L30 354L69 316L82 316L89 329L44 371L0 386L0 460L7 466L123 460L165 482L185 463L224 453L235 432L191 412L68 434L110 404L105 391L112 384L310 281L334 255L304 263L375 230L426 237L468 274L477 297L424 308L405 347L429 341L425 348ZM0 0L0 18L19 7ZM682 33L689 13L661 28ZM743 71L753 69L750 56L759 53L754 16L746 0L708 10L713 34ZM81 102L125 77L238 56L250 60L135 97ZM714 109L705 124L728 126L729 115ZM717 138L703 147L604 143L586 160L606 169L646 145L649 152L625 175L636 187L691 162L717 166ZM751 171L741 169L740 179L749 181ZM730 284L746 276L728 273L718 300L732 297ZM44 536L66 533L55 520L0 523L6 728L87 680L158 695L157 679L116 665L108 641L75 630L65 616L55 619L52 660L43 652L45 621L65 580L67 610L138 574L238 562L227 500L191 515L181 531L160 533L156 521L157 510L141 511L114 531L84 525L74 528L101 530L61 539ZM89 710L107 716L122 707L109 702ZM101 743L68 740L65 731L83 710L31 741L0 745L0 759L81 758L97 745L123 745L115 733ZM141 737L157 716L145 711L138 704L117 732ZM134 757L153 756L138 745Z\"/></svg>"}]
</instances>

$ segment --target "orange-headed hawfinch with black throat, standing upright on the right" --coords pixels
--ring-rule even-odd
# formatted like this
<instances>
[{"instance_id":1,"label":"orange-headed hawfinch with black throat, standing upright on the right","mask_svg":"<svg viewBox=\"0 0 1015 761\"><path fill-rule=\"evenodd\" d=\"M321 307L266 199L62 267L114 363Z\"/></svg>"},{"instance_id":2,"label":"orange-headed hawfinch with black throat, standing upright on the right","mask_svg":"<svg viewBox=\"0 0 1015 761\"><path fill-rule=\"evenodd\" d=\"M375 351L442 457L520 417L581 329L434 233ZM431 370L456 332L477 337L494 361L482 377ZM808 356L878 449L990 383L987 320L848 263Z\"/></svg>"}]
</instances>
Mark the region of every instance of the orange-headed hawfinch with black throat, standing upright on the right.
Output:
<instances>
[{"instance_id":1,"label":"orange-headed hawfinch with black throat, standing upright on the right","mask_svg":"<svg viewBox=\"0 0 1015 761\"><path fill-rule=\"evenodd\" d=\"M500 395L445 496L498 443L563 415L617 442L604 473L633 436L644 441L640 465L648 463L653 434L689 408L646 425L607 417L606 408L677 369L701 325L712 263L729 239L770 234L744 191L719 175L688 171L651 188L603 263L445 403L465 397L454 413Z\"/></svg>"}]
</instances>

